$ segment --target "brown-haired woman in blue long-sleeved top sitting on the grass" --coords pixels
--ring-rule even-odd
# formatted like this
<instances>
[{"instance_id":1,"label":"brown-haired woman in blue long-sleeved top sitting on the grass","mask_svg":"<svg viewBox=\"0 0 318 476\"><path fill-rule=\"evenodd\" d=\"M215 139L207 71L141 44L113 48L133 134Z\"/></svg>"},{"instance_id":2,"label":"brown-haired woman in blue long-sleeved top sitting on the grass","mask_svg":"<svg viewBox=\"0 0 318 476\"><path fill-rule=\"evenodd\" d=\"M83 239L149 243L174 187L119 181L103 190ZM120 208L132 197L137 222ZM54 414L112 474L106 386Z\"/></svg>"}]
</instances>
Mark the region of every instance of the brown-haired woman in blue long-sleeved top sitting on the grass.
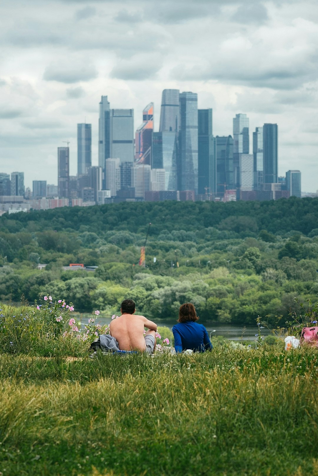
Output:
<instances>
[{"instance_id":1,"label":"brown-haired woman in blue long-sleeved top sitting on the grass","mask_svg":"<svg viewBox=\"0 0 318 476\"><path fill-rule=\"evenodd\" d=\"M205 350L213 348L207 330L202 324L196 322L198 318L195 307L191 302L186 302L180 306L178 324L172 328L176 353L186 349L192 349L194 352L205 352Z\"/></svg>"}]
</instances>

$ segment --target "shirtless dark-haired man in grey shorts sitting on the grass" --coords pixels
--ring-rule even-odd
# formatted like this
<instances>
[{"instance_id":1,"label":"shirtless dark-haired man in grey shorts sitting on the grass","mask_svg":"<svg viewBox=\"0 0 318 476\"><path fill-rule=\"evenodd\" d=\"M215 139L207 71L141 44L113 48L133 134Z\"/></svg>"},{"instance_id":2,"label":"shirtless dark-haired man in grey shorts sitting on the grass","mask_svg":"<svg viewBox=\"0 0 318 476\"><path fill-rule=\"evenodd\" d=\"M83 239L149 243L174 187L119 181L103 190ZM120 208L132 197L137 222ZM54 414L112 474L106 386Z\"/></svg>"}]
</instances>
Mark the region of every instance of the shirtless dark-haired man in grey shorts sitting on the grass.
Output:
<instances>
[{"instance_id":1,"label":"shirtless dark-haired man in grey shorts sitting on the grass","mask_svg":"<svg viewBox=\"0 0 318 476\"><path fill-rule=\"evenodd\" d=\"M109 326L111 336L115 337L120 350L141 350L153 354L156 347L157 325L144 316L136 316L135 303L125 299L120 308L122 315L113 319ZM147 327L144 335L144 327Z\"/></svg>"}]
</instances>

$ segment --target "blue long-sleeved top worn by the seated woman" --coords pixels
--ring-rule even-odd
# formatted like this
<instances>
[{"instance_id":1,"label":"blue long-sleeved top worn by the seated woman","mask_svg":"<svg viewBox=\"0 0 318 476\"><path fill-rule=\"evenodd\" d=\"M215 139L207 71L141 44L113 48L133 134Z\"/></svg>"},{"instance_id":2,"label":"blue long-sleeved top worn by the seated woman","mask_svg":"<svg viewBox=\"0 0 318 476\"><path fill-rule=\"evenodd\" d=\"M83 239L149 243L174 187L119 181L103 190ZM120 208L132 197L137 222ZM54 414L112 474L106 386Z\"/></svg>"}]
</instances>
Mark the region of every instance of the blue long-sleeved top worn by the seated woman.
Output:
<instances>
[{"instance_id":1,"label":"blue long-sleeved top worn by the seated woman","mask_svg":"<svg viewBox=\"0 0 318 476\"><path fill-rule=\"evenodd\" d=\"M174 334L174 348L177 353L185 349L205 352L205 350L213 348L207 330L197 322L179 322L174 325L172 332Z\"/></svg>"}]
</instances>

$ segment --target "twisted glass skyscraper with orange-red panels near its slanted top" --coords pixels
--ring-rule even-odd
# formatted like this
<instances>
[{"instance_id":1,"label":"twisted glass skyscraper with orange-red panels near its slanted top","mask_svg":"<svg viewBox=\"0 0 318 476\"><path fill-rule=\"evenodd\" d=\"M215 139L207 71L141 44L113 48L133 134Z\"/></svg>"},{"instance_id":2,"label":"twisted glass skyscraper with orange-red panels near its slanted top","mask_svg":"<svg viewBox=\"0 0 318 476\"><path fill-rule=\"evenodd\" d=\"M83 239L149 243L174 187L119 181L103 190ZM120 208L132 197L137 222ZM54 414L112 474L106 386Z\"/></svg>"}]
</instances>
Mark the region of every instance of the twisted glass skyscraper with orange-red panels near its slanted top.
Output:
<instances>
[{"instance_id":1,"label":"twisted glass skyscraper with orange-red panels near its slanted top","mask_svg":"<svg viewBox=\"0 0 318 476\"><path fill-rule=\"evenodd\" d=\"M143 110L143 123L135 134L135 162L151 164L151 141L154 131L154 103L151 102Z\"/></svg>"}]
</instances>

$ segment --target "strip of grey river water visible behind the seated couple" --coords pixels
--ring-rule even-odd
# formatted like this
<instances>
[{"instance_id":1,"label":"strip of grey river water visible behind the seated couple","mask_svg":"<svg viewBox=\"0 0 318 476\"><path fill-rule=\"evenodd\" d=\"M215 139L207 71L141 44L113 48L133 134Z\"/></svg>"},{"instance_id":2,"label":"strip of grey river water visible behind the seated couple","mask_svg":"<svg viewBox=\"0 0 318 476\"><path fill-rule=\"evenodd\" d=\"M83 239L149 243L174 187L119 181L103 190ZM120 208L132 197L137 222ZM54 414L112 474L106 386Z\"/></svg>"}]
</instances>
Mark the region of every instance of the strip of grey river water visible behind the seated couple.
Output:
<instances>
[{"instance_id":1,"label":"strip of grey river water visible behind the seated couple","mask_svg":"<svg viewBox=\"0 0 318 476\"><path fill-rule=\"evenodd\" d=\"M87 324L89 317L83 317L82 323ZM109 324L112 321L111 318L104 318L96 316L95 323L97 324L100 322L101 325ZM158 326L166 326L172 329L174 324L176 324L175 320L156 320L155 321ZM213 336L223 336L228 340L244 340L244 341L255 341L257 333L257 326L246 326L244 325L236 325L236 324L222 324L219 322L211 323L211 322L203 322L201 320L198 321L200 324L203 324L206 327L206 330L211 337ZM266 327L261 327L261 334L262 336L268 336L271 334L271 329Z\"/></svg>"}]
</instances>

